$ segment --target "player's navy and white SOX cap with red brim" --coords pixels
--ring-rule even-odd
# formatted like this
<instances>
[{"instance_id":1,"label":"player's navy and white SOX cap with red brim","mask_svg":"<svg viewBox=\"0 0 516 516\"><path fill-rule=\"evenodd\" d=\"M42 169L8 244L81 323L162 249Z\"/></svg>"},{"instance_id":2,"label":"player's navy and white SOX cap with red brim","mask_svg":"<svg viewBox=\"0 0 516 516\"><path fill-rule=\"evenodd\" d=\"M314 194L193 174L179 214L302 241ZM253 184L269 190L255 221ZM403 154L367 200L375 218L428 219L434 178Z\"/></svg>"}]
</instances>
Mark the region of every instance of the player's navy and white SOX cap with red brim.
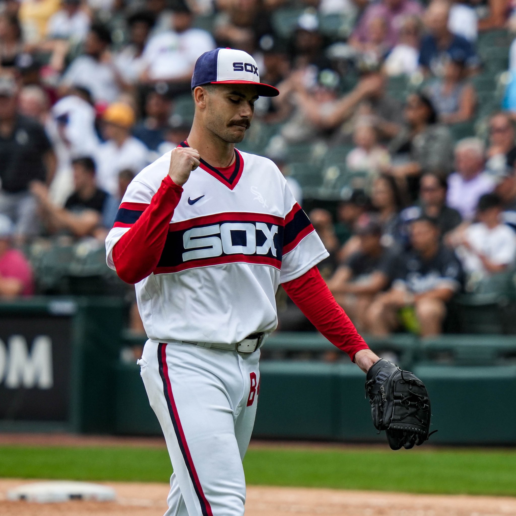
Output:
<instances>
[{"instance_id":1,"label":"player's navy and white SOX cap with red brim","mask_svg":"<svg viewBox=\"0 0 516 516\"><path fill-rule=\"evenodd\" d=\"M243 50L215 49L197 59L191 87L203 84L254 84L260 96L276 96L279 91L260 82L256 61Z\"/></svg>"}]
</instances>

